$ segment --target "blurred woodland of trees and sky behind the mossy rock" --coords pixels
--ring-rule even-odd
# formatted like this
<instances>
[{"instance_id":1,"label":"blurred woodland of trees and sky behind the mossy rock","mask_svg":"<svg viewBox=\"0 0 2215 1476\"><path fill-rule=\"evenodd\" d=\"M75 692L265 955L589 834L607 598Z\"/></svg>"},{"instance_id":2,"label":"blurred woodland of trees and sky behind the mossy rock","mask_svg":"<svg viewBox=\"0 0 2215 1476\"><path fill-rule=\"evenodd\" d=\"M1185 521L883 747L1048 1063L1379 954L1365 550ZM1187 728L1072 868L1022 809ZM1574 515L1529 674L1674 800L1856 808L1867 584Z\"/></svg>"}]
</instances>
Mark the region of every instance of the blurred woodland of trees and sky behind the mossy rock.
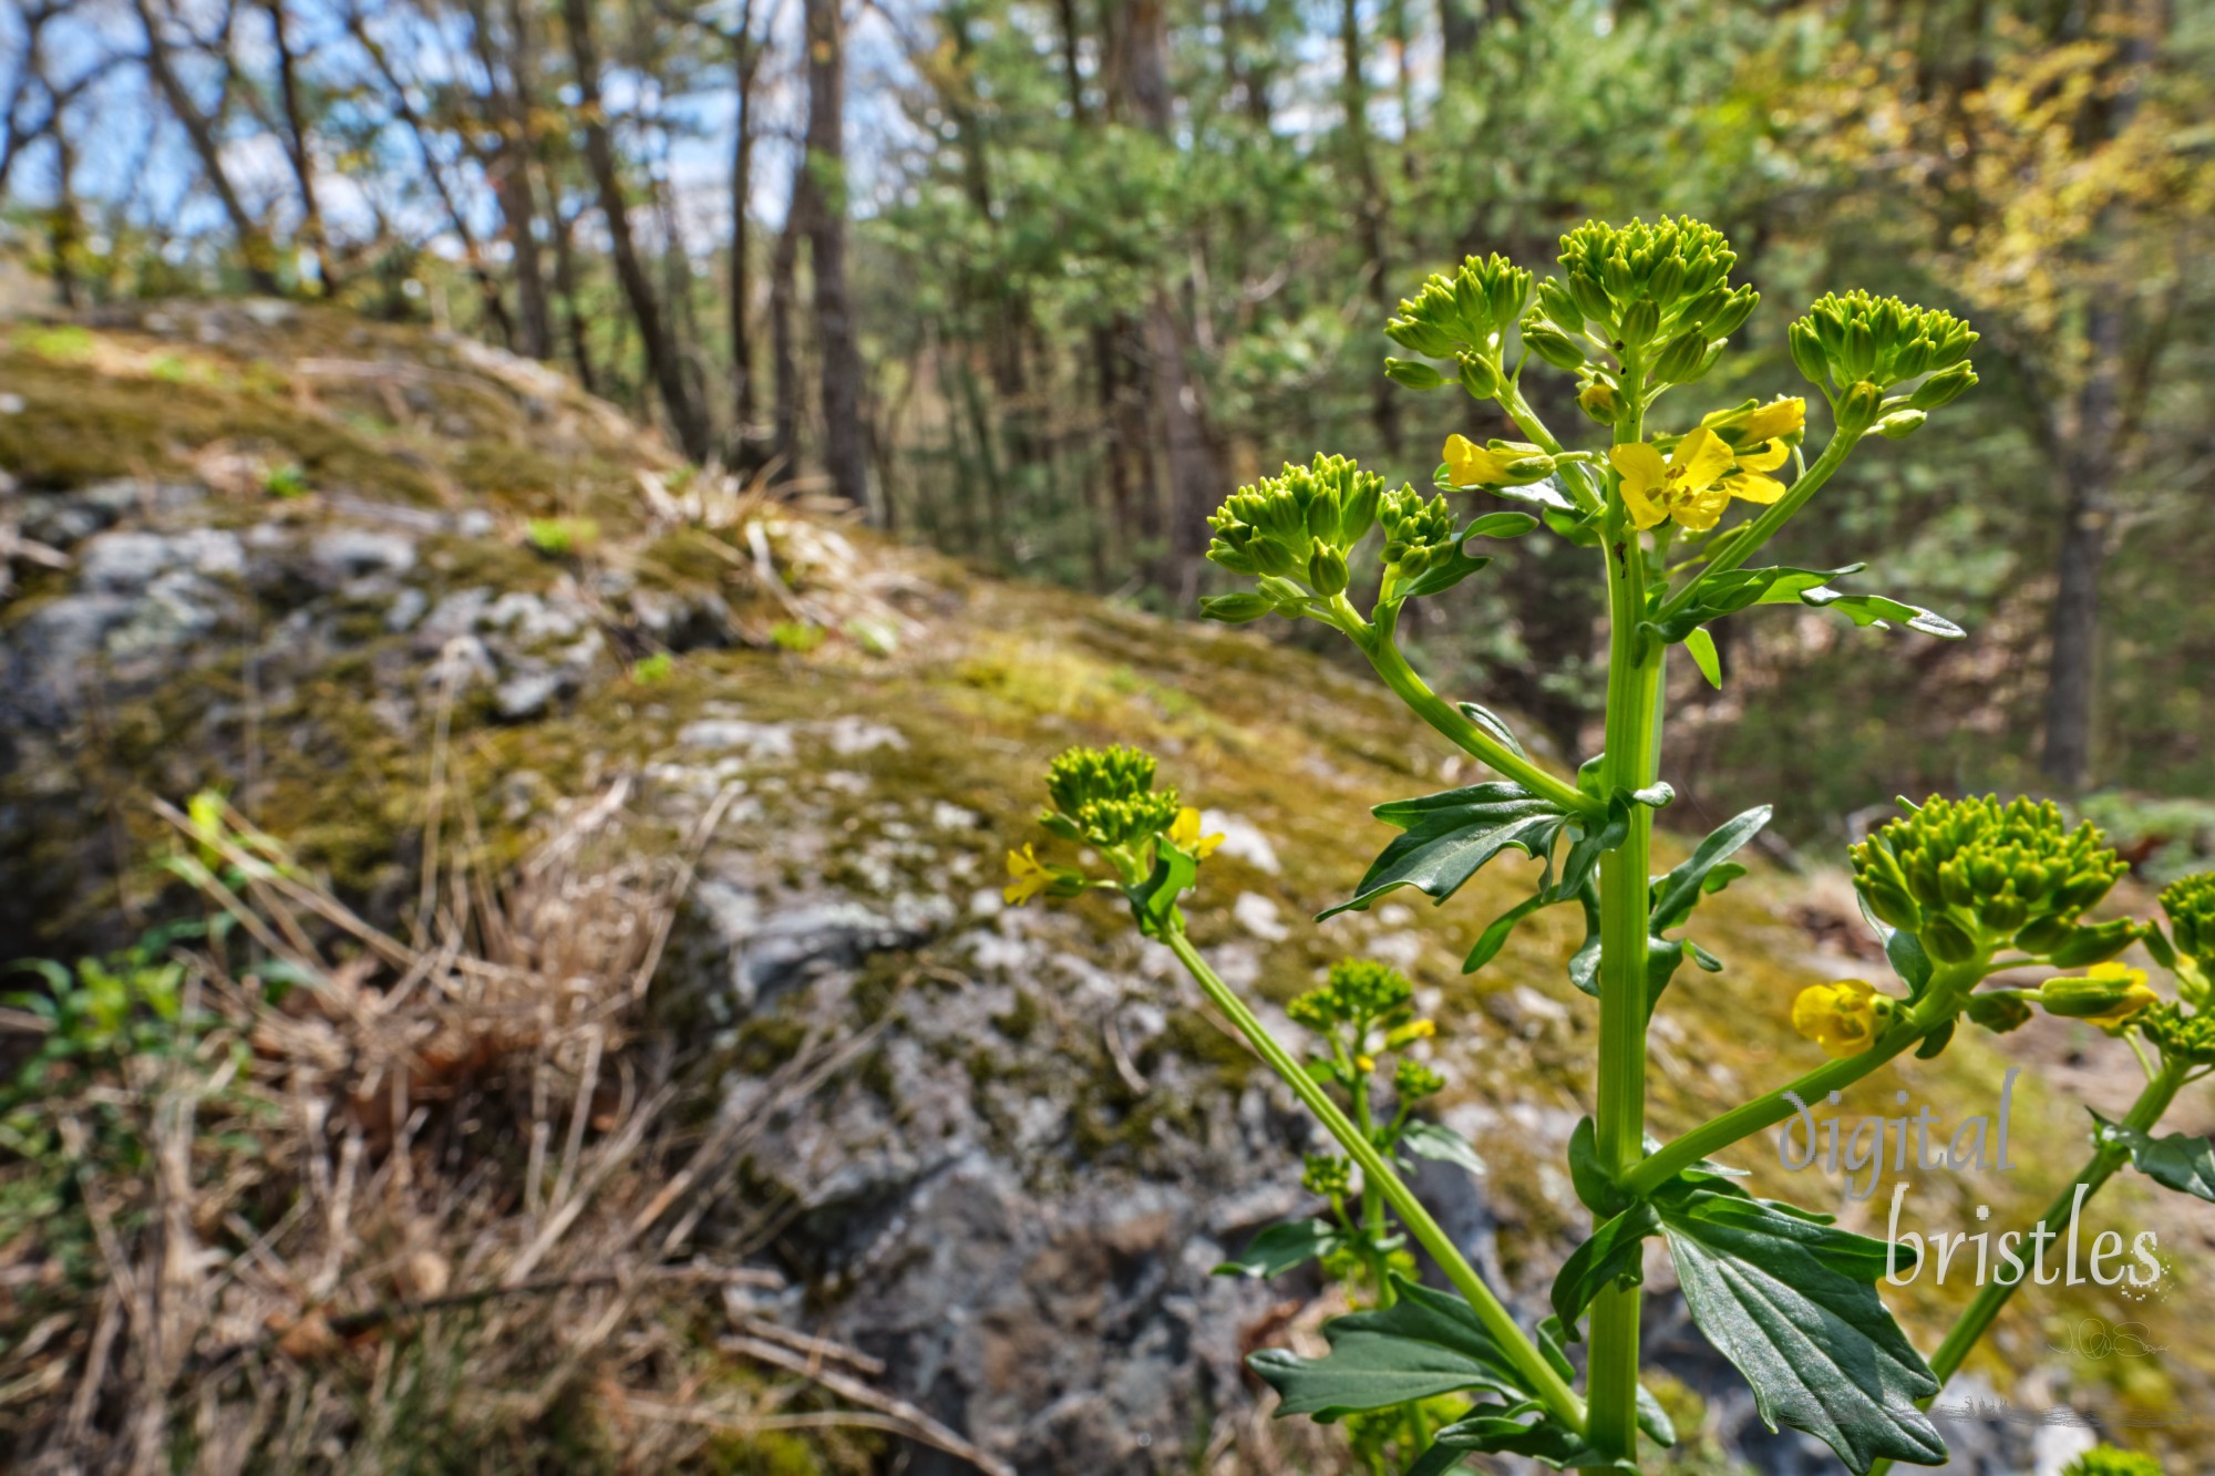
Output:
<instances>
[{"instance_id":1,"label":"blurred woodland of trees and sky behind the mossy rock","mask_svg":"<svg viewBox=\"0 0 2215 1476\"><path fill-rule=\"evenodd\" d=\"M1681 787L1794 793L1807 838L1898 789L2215 782L2211 49L2171 0L20 0L0 184L64 306L436 321L693 461L1170 612L1280 459L1426 485L1506 430L1380 375L1429 270L1694 213L1765 293L1717 403L1796 390L1834 286L1985 332L1965 412L1785 550L1889 547L1974 638L1774 621L1686 689ZM1539 536L1473 590L1426 663L1588 747L1582 563Z\"/></svg>"}]
</instances>

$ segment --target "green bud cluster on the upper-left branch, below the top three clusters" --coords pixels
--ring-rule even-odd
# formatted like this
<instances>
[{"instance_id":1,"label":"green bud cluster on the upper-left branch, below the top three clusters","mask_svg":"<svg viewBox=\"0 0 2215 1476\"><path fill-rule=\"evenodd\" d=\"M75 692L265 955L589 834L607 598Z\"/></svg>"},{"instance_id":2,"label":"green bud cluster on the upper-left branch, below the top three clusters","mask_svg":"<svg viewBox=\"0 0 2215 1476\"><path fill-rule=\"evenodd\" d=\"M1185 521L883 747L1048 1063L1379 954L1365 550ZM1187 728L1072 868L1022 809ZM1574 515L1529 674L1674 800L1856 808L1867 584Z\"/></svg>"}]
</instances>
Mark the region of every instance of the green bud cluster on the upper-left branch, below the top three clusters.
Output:
<instances>
[{"instance_id":1,"label":"green bud cluster on the upper-left branch, below the top three clusters","mask_svg":"<svg viewBox=\"0 0 2215 1476\"><path fill-rule=\"evenodd\" d=\"M1260 576L1260 594L1218 594L1201 601L1201 612L1214 621L1258 621L1271 609L1300 614L1309 590L1325 598L1340 594L1347 552L1376 525L1382 490L1376 472L1345 457L1316 457L1232 492L1207 519L1216 534L1207 556L1232 574Z\"/></svg>"}]
</instances>

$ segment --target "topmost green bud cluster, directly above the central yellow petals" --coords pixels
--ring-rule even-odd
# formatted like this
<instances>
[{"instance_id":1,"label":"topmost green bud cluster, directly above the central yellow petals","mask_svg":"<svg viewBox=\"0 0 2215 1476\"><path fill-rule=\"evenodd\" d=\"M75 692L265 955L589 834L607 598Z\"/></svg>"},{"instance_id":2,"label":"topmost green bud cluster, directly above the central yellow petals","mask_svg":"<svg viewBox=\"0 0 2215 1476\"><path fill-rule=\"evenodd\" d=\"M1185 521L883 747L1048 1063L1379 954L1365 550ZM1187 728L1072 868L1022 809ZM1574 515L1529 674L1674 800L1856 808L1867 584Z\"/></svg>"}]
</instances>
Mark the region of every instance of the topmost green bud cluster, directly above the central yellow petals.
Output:
<instances>
[{"instance_id":1,"label":"topmost green bud cluster, directly above the central yellow petals","mask_svg":"<svg viewBox=\"0 0 2215 1476\"><path fill-rule=\"evenodd\" d=\"M1617 361L1655 350L1655 379L1692 383L1761 301L1754 288L1730 286L1737 259L1721 230L1690 215L1628 226L1586 222L1562 237L1566 281L1539 284L1524 344L1548 363L1579 368L1586 355L1577 339L1590 335Z\"/></svg>"}]
</instances>

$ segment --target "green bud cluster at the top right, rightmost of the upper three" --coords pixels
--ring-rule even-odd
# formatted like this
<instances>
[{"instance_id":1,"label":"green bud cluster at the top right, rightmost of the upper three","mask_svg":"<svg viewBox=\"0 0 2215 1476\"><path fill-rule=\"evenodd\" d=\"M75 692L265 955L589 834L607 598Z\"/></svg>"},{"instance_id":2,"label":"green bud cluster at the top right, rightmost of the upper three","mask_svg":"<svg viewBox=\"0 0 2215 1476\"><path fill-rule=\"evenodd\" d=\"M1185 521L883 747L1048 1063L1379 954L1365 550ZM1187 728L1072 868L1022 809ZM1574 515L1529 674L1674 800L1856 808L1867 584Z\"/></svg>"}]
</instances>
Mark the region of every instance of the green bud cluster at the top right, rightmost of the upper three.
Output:
<instances>
[{"instance_id":1,"label":"green bud cluster at the top right, rightmost of the upper three","mask_svg":"<svg viewBox=\"0 0 2215 1476\"><path fill-rule=\"evenodd\" d=\"M1792 324L1792 363L1825 397L1845 434L1898 441L1927 414L1976 386L1969 350L1978 335L1943 308L1916 308L1898 297L1825 293ZM1916 379L1905 394L1887 394Z\"/></svg>"}]
</instances>

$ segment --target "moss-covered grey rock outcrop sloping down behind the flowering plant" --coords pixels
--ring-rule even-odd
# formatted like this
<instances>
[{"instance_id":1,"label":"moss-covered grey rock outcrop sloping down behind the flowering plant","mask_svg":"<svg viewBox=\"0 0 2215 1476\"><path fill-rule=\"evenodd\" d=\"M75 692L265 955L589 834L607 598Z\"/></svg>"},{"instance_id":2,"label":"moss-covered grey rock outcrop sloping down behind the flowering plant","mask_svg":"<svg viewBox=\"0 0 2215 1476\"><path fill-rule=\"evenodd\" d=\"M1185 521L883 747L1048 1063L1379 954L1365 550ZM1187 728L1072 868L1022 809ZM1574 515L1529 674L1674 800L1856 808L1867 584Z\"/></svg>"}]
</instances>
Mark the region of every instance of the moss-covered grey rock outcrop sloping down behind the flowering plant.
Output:
<instances>
[{"instance_id":1,"label":"moss-covered grey rock outcrop sloping down behind the flowering plant","mask_svg":"<svg viewBox=\"0 0 2215 1476\"><path fill-rule=\"evenodd\" d=\"M1506 869L1442 911L1307 922L1380 844L1367 807L1473 778L1340 667L975 576L693 472L540 366L275 304L11 326L0 468L0 957L106 946L175 906L142 867L151 800L210 785L394 926L432 787L465 793L496 860L578 804L620 809L638 849L713 820L656 980L702 1110L749 1113L804 1044L866 1037L742 1166L780 1212L720 1239L804 1288L769 1312L866 1350L1017 1469L1331 1469L1269 1434L1240 1370L1311 1336L1316 1288L1209 1277L1302 1208L1289 1095L1127 918L1001 906L1001 855L1034 838L1037 776L1070 742L1152 747L1229 838L1194 933L1280 1026L1333 957L1418 980L1446 1026L1442 1115L1491 1166L1426 1166L1424 1188L1524 1310L1582 1234L1559 1164L1593 1019L1568 920L1542 913L1477 977L1457 962L1513 900ZM1812 1064L1792 991L1881 968L1836 878L1756 871L1701 920L1730 966L1663 1006L1657 1130ZM2091 1031L2005 1046L2031 1066L2025 1168L1918 1183L1929 1226L2025 1217L2082 1144L2053 1088L2129 1093L2129 1055ZM1896 1086L1949 1119L1991 1110L2007 1064L1965 1039L1847 1110L1894 1110ZM1878 1203L1774 1159L1763 1179L1863 1226ZM2215 1265L2204 1221L2129 1188L2106 1214L2160 1226L2184 1285ZM1683 1472L1834 1469L1761 1432L1672 1314L1666 1263L1650 1290ZM1929 1345L1956 1301L1898 1305ZM1982 1387L2211 1407L2215 1350L2182 1303L2135 1312L2173 1347L2120 1365L2051 1352L2064 1303L2025 1301ZM2027 1423L1949 1434L1956 1469L2038 1469Z\"/></svg>"}]
</instances>

